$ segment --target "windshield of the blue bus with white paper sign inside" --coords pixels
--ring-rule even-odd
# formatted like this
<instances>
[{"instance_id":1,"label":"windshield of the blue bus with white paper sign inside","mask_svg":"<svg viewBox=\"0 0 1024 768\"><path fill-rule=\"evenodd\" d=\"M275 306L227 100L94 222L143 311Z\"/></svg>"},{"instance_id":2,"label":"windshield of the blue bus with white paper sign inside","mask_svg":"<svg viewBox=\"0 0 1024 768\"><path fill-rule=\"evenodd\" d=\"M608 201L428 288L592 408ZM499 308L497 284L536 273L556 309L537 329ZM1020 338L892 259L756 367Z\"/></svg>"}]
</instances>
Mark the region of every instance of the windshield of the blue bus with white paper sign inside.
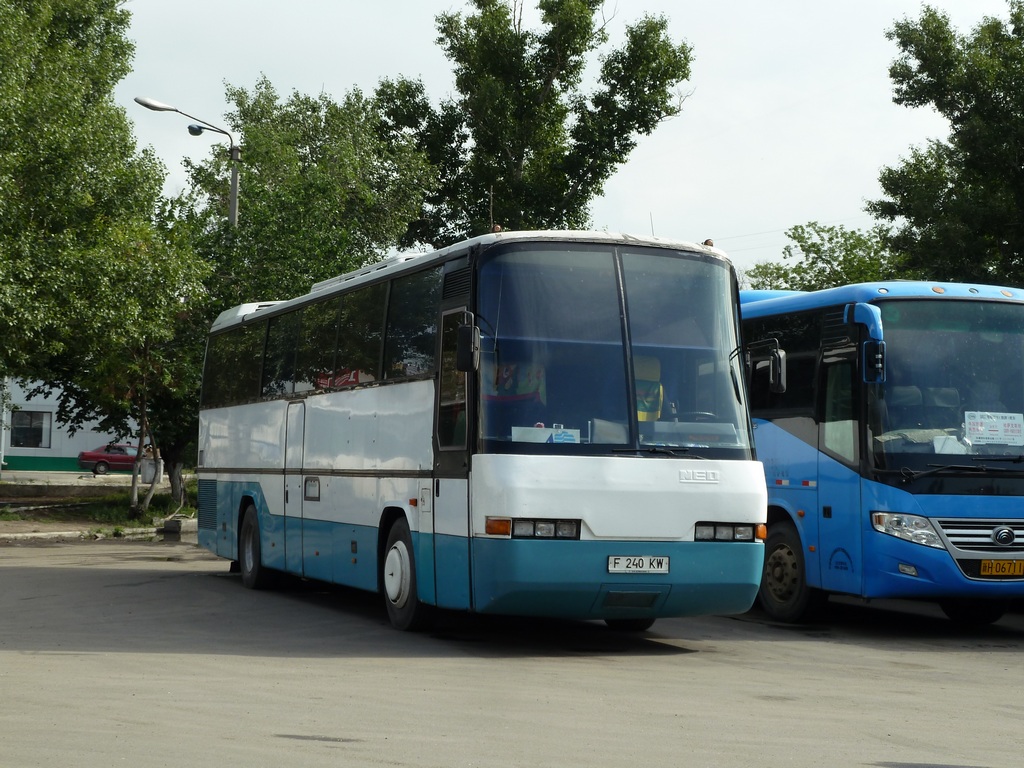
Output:
<instances>
[{"instance_id":1,"label":"windshield of the blue bus with white paper sign inside","mask_svg":"<svg viewBox=\"0 0 1024 768\"><path fill-rule=\"evenodd\" d=\"M916 472L1024 455L1024 305L880 307L886 382L869 399L876 466Z\"/></svg>"}]
</instances>

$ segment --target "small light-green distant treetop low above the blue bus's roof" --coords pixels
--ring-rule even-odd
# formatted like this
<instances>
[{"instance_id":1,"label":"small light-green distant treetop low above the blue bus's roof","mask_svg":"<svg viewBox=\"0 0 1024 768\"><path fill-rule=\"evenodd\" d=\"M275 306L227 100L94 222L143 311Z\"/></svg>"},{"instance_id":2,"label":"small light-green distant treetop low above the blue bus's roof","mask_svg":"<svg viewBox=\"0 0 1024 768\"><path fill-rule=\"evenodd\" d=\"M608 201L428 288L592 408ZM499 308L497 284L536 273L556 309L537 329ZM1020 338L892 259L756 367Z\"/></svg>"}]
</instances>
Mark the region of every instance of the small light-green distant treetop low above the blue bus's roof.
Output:
<instances>
[{"instance_id":1,"label":"small light-green distant treetop low above the blue bus's roof","mask_svg":"<svg viewBox=\"0 0 1024 768\"><path fill-rule=\"evenodd\" d=\"M912 276L883 245L881 233L816 221L788 229L795 245L782 249L791 263L763 261L746 270L751 288L818 291L850 283Z\"/></svg>"}]
</instances>

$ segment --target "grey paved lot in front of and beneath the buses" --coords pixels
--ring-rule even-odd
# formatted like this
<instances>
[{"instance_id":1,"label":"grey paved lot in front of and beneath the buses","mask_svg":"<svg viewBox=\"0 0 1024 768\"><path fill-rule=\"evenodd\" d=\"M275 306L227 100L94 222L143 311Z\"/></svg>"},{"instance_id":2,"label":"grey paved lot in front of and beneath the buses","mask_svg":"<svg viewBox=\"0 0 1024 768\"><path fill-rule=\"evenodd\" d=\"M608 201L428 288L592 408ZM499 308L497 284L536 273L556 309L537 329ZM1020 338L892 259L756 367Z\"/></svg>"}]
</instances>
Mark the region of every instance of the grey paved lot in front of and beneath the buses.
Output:
<instances>
[{"instance_id":1,"label":"grey paved lot in front of and beneath the buses","mask_svg":"<svg viewBox=\"0 0 1024 768\"><path fill-rule=\"evenodd\" d=\"M0 765L1020 764L1024 616L932 606L596 623L445 616L241 587L196 547L0 547Z\"/></svg>"}]
</instances>

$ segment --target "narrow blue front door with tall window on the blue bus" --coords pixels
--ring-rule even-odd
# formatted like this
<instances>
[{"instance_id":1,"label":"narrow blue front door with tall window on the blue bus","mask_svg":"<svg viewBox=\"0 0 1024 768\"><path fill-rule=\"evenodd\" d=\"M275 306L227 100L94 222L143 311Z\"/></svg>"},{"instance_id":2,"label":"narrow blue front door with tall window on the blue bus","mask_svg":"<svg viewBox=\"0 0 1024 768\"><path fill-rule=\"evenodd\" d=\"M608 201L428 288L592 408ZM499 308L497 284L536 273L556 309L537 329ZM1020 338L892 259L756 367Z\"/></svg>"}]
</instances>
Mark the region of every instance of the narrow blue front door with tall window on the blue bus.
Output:
<instances>
[{"instance_id":1,"label":"narrow blue front door with tall window on the blue bus","mask_svg":"<svg viewBox=\"0 0 1024 768\"><path fill-rule=\"evenodd\" d=\"M861 391L856 358L847 350L825 351L821 361L818 424L818 557L821 587L859 595L861 573L860 423Z\"/></svg>"}]
</instances>

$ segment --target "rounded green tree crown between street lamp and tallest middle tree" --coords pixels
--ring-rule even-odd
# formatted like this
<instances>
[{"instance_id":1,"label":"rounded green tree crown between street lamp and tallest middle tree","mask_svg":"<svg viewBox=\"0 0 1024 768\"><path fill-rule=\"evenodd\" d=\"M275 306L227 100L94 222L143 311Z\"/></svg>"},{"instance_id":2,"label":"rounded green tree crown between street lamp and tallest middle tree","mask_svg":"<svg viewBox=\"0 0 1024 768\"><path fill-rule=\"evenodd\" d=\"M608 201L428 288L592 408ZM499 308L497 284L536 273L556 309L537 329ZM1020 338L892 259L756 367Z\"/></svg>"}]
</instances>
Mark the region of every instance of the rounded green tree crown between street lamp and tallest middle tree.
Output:
<instances>
[{"instance_id":1,"label":"rounded green tree crown between street lamp and tallest middle tree","mask_svg":"<svg viewBox=\"0 0 1024 768\"><path fill-rule=\"evenodd\" d=\"M215 309L305 293L319 280L393 248L433 183L411 140L385 144L373 102L293 93L282 101L261 78L229 87L230 127L243 136L240 225L226 223L227 147L189 164L182 203L197 249L213 272Z\"/></svg>"}]
</instances>

